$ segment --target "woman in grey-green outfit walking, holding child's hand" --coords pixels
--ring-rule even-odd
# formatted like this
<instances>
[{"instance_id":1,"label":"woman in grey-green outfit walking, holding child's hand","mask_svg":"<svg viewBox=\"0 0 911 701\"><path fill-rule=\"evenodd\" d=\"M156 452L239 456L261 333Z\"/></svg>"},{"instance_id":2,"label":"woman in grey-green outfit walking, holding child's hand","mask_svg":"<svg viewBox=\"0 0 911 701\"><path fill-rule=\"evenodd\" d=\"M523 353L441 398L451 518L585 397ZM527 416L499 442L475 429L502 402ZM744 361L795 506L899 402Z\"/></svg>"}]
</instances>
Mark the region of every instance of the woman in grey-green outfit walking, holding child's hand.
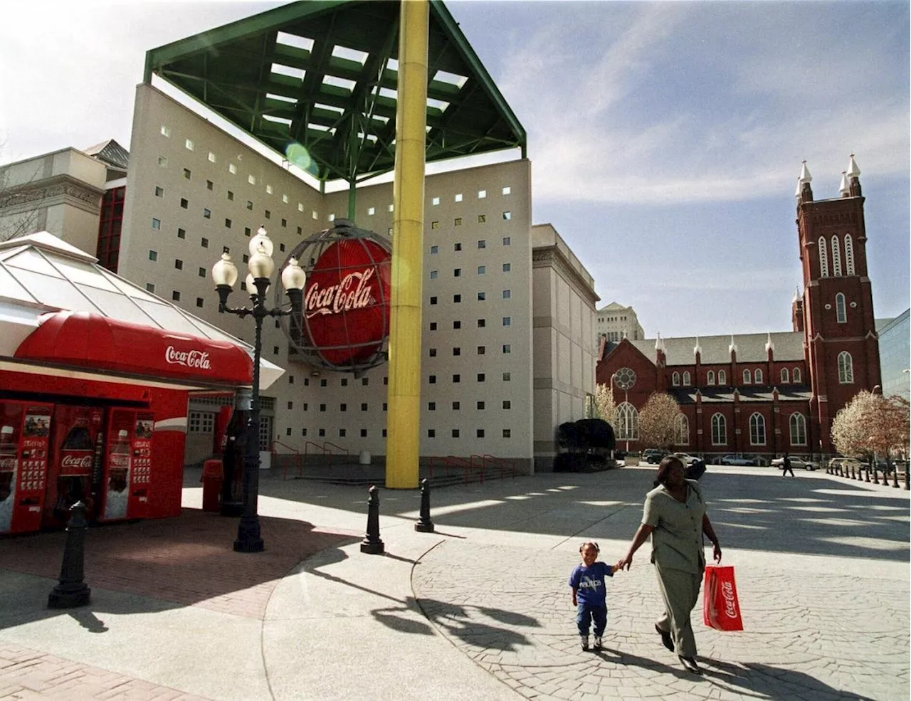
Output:
<instances>
[{"instance_id":1,"label":"woman in grey-green outfit walking, holding child's hand","mask_svg":"<svg viewBox=\"0 0 911 701\"><path fill-rule=\"evenodd\" d=\"M633 536L630 550L617 563L629 570L632 556L651 536L651 562L658 574L664 599L664 615L655 624L661 642L676 651L681 664L693 674L701 674L696 664L696 640L692 635L690 614L699 598L705 554L702 533L713 546L715 562L722 561L722 548L706 515L699 483L684 477L680 458L669 455L658 466L658 486L646 494L642 524Z\"/></svg>"}]
</instances>

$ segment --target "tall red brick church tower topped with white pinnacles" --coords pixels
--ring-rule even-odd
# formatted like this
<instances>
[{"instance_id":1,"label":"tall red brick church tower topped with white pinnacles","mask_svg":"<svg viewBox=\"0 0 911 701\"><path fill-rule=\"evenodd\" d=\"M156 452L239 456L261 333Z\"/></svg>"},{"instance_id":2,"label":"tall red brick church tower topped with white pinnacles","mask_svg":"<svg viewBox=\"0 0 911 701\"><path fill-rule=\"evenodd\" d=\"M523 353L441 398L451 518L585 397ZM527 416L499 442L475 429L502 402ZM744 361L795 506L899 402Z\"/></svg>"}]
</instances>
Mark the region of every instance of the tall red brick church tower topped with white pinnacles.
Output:
<instances>
[{"instance_id":1,"label":"tall red brick church tower topped with white pinnacles","mask_svg":"<svg viewBox=\"0 0 911 701\"><path fill-rule=\"evenodd\" d=\"M860 168L851 154L838 198L814 200L804 161L798 178L797 234L804 294L804 354L810 370L811 451L832 453L832 420L858 391L882 384L873 290L866 267L864 197Z\"/></svg>"}]
</instances>

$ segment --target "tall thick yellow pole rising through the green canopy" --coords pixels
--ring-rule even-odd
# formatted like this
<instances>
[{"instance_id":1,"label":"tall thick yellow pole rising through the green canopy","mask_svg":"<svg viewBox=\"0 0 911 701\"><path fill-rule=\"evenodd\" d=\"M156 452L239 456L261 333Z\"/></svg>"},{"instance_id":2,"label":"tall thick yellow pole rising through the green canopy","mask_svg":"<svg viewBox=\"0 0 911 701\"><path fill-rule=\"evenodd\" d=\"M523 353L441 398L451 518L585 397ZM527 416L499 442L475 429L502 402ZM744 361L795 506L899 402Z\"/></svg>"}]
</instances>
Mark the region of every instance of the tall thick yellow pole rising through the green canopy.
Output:
<instances>
[{"instance_id":1,"label":"tall thick yellow pole rising through the green canopy","mask_svg":"<svg viewBox=\"0 0 911 701\"><path fill-rule=\"evenodd\" d=\"M414 489L421 443L421 306L427 121L427 0L402 0L395 111L392 319L386 487Z\"/></svg>"}]
</instances>

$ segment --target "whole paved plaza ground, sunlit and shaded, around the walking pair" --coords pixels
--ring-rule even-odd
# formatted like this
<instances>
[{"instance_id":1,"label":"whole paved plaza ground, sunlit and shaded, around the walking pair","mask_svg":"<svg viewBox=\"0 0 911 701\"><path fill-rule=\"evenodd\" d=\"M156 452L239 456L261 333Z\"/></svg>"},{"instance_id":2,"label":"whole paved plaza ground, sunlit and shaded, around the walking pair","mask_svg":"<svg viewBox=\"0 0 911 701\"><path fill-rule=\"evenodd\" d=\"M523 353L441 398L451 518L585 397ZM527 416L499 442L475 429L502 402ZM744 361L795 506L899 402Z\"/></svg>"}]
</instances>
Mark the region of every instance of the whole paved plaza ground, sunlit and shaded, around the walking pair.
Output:
<instances>
[{"instance_id":1,"label":"whole paved plaza ground, sunlit and shaded, around the walking pair","mask_svg":"<svg viewBox=\"0 0 911 701\"><path fill-rule=\"evenodd\" d=\"M653 631L648 545L609 581L605 649L578 648L578 544L613 563L654 467L381 491L385 555L359 550L366 490L264 475L267 552L202 513L92 529L92 603L52 612L62 533L0 540L0 699L906 699L909 493L821 472L710 466L710 516L744 631L694 628L704 676Z\"/></svg>"}]
</instances>

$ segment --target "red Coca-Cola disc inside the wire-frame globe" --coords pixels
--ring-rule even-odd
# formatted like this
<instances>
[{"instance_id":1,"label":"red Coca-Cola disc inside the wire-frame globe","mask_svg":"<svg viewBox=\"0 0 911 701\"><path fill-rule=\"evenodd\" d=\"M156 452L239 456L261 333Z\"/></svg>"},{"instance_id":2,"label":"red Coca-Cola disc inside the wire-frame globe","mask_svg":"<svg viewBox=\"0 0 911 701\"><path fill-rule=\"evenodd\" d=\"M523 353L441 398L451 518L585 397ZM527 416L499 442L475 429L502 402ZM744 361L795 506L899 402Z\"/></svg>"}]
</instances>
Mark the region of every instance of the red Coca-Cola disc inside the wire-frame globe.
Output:
<instances>
[{"instance_id":1,"label":"red Coca-Cola disc inside the wire-frame globe","mask_svg":"<svg viewBox=\"0 0 911 701\"><path fill-rule=\"evenodd\" d=\"M390 255L370 239L343 239L322 252L307 280L303 321L333 365L370 358L389 333Z\"/></svg>"}]
</instances>

